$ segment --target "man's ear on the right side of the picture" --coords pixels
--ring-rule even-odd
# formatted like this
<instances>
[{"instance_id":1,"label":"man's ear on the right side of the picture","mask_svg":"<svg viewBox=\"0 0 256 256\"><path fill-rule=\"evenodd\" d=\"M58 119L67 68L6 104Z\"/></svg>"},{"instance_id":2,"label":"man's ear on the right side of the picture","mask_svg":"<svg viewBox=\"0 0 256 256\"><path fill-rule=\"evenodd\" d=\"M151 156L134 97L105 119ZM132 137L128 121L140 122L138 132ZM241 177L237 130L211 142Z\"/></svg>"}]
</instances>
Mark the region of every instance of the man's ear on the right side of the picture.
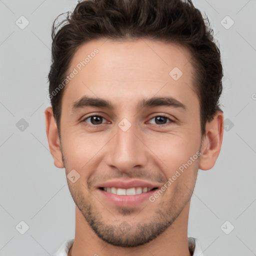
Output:
<instances>
[{"instance_id":1,"label":"man's ear on the right side of the picture","mask_svg":"<svg viewBox=\"0 0 256 256\"><path fill-rule=\"evenodd\" d=\"M212 168L220 152L223 138L223 113L217 111L210 122L206 122L202 138L199 169Z\"/></svg>"}]
</instances>

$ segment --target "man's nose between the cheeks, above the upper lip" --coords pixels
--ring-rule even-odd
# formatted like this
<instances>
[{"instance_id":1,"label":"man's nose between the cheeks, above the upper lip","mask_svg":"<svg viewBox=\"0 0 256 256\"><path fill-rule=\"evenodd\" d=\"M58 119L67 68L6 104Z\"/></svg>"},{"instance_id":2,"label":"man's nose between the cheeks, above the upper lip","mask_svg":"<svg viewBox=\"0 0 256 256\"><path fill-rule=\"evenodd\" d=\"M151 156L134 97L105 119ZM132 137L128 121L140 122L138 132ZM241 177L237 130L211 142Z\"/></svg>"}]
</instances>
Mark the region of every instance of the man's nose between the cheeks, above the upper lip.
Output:
<instances>
[{"instance_id":1,"label":"man's nose between the cheeks, above the upper lip","mask_svg":"<svg viewBox=\"0 0 256 256\"><path fill-rule=\"evenodd\" d=\"M141 131L135 124L126 131L117 126L108 148L106 163L120 172L130 172L134 167L144 168L148 158L148 148L144 143Z\"/></svg>"}]
</instances>

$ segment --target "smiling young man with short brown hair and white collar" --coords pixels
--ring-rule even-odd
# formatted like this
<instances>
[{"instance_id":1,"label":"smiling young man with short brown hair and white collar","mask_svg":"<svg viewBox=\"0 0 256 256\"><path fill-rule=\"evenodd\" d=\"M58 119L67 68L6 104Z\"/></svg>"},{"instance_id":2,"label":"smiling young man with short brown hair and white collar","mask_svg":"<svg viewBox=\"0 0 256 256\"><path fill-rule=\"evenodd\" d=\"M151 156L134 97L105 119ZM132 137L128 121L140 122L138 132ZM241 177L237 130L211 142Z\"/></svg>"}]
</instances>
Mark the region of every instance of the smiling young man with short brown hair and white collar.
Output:
<instances>
[{"instance_id":1,"label":"smiling young man with short brown hair and white collar","mask_svg":"<svg viewBox=\"0 0 256 256\"><path fill-rule=\"evenodd\" d=\"M53 24L46 134L76 204L54 256L202 255L198 168L222 142L222 65L190 1L85 0Z\"/></svg>"}]
</instances>

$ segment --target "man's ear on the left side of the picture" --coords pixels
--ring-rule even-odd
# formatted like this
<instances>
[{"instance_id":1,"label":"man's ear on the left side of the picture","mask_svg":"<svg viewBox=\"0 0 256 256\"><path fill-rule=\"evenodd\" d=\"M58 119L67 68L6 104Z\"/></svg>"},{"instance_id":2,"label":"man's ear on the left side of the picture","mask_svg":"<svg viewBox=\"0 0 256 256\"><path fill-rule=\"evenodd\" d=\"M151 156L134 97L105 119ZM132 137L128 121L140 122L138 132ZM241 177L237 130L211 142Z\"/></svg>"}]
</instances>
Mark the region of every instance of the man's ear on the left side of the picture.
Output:
<instances>
[{"instance_id":1,"label":"man's ear on the left side of the picture","mask_svg":"<svg viewBox=\"0 0 256 256\"><path fill-rule=\"evenodd\" d=\"M50 153L54 159L54 165L58 168L63 168L64 163L62 161L62 153L60 147L60 141L58 137L58 129L53 116L52 107L47 107L44 111L46 135L48 139Z\"/></svg>"}]
</instances>

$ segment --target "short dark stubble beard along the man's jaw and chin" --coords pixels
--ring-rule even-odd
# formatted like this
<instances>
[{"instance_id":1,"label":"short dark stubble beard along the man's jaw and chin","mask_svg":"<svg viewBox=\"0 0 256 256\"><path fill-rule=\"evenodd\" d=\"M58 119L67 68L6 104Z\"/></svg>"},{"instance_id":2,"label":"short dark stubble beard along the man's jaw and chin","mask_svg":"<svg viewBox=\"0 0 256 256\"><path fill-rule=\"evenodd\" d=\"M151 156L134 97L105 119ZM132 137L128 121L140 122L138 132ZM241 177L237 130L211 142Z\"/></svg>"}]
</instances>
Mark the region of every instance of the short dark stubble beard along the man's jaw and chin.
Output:
<instances>
[{"instance_id":1,"label":"short dark stubble beard along the man's jaw and chin","mask_svg":"<svg viewBox=\"0 0 256 256\"><path fill-rule=\"evenodd\" d=\"M116 217L114 217L114 213L110 213L109 210L105 209L107 215L112 214L113 216L112 224L107 224L104 222L103 211L97 210L95 204L90 200L91 198L94 198L93 196L85 199L82 196L83 192L76 191L76 188L72 185L69 186L69 190L76 206L79 208L84 219L96 235L109 244L121 247L136 247L156 238L175 221L187 201L190 199L189 196L189 198L180 205L180 199L177 199L174 195L172 197L173 199L168 203L167 209L156 209L149 222L135 223L132 225L128 221L129 217L131 221L134 222L133 218L135 219L136 217L139 217L139 215L141 218L141 214L144 214L145 216L142 219L146 219L147 210L152 205L152 202L148 201L148 204L137 214L137 216L136 214L134 215L134 210L132 208L118 207L118 213L122 217L127 217L127 221L123 221L120 224L115 224L114 221ZM97 200L95 199L95 201Z\"/></svg>"}]
</instances>

